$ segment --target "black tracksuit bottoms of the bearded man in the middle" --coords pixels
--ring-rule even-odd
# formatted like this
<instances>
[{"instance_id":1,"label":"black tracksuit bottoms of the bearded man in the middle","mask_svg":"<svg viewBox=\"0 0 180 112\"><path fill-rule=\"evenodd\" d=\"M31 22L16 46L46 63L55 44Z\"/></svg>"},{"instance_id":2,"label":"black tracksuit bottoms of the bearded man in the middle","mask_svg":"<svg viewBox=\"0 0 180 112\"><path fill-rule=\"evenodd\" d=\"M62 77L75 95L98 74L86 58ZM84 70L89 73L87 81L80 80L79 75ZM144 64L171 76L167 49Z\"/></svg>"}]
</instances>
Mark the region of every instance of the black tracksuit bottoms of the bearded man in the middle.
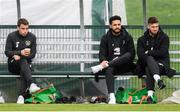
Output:
<instances>
[{"instance_id":1,"label":"black tracksuit bottoms of the bearded man in the middle","mask_svg":"<svg viewBox=\"0 0 180 112\"><path fill-rule=\"evenodd\" d=\"M114 75L119 73L126 73L132 69L132 64L129 62L131 54L126 53L109 62L109 67L105 68L106 84L108 93L114 93Z\"/></svg>"}]
</instances>

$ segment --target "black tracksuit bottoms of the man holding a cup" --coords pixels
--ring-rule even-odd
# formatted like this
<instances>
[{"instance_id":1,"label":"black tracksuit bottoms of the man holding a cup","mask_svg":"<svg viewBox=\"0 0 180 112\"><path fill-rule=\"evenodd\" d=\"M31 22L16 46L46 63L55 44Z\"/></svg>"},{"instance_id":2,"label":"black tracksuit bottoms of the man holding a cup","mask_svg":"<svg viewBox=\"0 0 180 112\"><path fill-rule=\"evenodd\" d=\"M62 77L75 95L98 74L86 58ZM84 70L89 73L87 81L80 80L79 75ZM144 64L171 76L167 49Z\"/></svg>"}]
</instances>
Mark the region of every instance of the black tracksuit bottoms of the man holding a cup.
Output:
<instances>
[{"instance_id":1,"label":"black tracksuit bottoms of the man holding a cup","mask_svg":"<svg viewBox=\"0 0 180 112\"><path fill-rule=\"evenodd\" d=\"M20 75L19 95L25 94L27 88L32 83L30 64L26 59L20 59L18 61L8 60L8 69L11 73Z\"/></svg>"}]
</instances>

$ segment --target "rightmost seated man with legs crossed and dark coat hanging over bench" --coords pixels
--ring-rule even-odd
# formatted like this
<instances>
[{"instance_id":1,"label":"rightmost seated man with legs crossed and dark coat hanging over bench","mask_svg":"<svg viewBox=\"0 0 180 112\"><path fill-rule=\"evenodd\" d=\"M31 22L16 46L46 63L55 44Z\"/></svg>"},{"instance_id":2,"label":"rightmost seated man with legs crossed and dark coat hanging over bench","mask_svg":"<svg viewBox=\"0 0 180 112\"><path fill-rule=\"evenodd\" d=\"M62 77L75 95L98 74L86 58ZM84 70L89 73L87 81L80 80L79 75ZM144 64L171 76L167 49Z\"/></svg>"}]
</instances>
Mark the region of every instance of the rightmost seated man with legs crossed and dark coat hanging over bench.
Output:
<instances>
[{"instance_id":1,"label":"rightmost seated man with legs crossed and dark coat hanging over bench","mask_svg":"<svg viewBox=\"0 0 180 112\"><path fill-rule=\"evenodd\" d=\"M163 89L166 85L160 75L169 74L171 77L172 74L169 59L169 37L160 29L156 17L148 19L148 29L137 42L137 55L137 65L140 65L141 75L146 74L147 102L153 103L155 82L159 89Z\"/></svg>"}]
</instances>

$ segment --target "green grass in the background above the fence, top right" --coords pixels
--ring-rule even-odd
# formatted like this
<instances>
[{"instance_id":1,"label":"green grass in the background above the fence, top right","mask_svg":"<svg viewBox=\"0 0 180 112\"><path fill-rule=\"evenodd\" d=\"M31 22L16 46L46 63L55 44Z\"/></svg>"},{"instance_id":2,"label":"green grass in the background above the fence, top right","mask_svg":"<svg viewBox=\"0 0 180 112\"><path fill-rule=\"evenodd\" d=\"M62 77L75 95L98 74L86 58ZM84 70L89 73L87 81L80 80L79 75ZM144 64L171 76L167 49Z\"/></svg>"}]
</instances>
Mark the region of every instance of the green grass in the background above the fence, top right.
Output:
<instances>
[{"instance_id":1,"label":"green grass in the background above the fence, top right","mask_svg":"<svg viewBox=\"0 0 180 112\"><path fill-rule=\"evenodd\" d=\"M180 0L146 0L147 17L157 16L161 24L180 24ZM142 0L125 0L128 25L142 25Z\"/></svg>"}]
</instances>

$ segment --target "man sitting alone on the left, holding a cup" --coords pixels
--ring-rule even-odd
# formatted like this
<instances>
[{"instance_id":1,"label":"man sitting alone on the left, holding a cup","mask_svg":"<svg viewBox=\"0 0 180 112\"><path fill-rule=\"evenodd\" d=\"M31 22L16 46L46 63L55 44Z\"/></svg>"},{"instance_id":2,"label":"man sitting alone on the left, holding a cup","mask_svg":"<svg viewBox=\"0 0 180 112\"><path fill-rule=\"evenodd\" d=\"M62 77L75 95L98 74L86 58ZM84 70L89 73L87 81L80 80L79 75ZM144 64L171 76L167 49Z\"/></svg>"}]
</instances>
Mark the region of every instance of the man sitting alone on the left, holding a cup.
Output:
<instances>
[{"instance_id":1,"label":"man sitting alone on the left, holding a cup","mask_svg":"<svg viewBox=\"0 0 180 112\"><path fill-rule=\"evenodd\" d=\"M17 31L10 33L6 40L5 54L8 57L8 69L20 74L20 92L18 104L24 104L24 94L29 87L30 93L39 90L31 77L31 62L36 54L36 36L28 31L29 22L21 18L17 22Z\"/></svg>"}]
</instances>

